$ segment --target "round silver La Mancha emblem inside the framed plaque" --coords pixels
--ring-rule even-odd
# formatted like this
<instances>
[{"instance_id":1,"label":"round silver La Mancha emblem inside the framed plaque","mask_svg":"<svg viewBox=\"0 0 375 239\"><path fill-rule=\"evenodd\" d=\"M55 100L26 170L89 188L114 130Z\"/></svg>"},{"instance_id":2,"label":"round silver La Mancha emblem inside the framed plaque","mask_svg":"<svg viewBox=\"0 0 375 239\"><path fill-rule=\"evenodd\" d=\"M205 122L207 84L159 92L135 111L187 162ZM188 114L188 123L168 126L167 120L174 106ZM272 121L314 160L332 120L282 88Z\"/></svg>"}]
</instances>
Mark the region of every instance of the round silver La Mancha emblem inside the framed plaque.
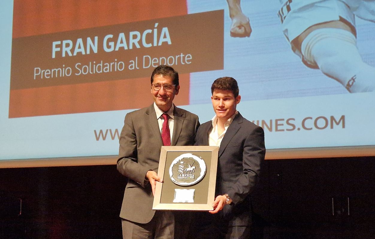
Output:
<instances>
[{"instance_id":1,"label":"round silver La Mancha emblem inside the framed plaque","mask_svg":"<svg viewBox=\"0 0 375 239\"><path fill-rule=\"evenodd\" d=\"M192 153L176 157L169 167L169 177L174 184L190 186L201 181L206 174L204 160Z\"/></svg>"}]
</instances>

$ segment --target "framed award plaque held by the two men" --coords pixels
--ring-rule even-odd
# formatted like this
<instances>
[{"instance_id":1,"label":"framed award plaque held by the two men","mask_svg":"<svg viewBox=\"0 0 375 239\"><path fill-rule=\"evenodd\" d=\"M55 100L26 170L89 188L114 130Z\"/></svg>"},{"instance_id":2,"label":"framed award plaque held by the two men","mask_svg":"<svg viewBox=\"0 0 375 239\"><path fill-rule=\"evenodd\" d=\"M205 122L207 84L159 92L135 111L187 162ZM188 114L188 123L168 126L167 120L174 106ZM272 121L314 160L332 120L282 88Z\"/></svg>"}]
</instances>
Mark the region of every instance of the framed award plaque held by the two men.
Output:
<instances>
[{"instance_id":1,"label":"framed award plaque held by the two men","mask_svg":"<svg viewBox=\"0 0 375 239\"><path fill-rule=\"evenodd\" d=\"M218 146L162 146L154 210L213 210Z\"/></svg>"}]
</instances>

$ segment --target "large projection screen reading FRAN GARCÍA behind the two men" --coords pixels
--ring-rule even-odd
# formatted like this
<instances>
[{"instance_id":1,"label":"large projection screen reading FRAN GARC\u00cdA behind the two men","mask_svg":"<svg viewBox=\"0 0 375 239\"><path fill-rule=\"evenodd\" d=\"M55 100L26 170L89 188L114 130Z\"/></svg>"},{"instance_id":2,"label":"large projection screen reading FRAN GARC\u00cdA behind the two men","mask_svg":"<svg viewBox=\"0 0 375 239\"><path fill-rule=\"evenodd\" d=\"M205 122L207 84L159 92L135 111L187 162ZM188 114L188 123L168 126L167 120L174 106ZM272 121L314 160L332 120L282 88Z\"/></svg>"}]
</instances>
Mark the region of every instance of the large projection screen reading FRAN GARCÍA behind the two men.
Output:
<instances>
[{"instance_id":1,"label":"large projection screen reading FRAN GARC\u00cdA behind the two men","mask_svg":"<svg viewBox=\"0 0 375 239\"><path fill-rule=\"evenodd\" d=\"M114 164L159 64L201 123L234 77L267 159L375 155L375 1L232 2L1 1L0 167Z\"/></svg>"}]
</instances>

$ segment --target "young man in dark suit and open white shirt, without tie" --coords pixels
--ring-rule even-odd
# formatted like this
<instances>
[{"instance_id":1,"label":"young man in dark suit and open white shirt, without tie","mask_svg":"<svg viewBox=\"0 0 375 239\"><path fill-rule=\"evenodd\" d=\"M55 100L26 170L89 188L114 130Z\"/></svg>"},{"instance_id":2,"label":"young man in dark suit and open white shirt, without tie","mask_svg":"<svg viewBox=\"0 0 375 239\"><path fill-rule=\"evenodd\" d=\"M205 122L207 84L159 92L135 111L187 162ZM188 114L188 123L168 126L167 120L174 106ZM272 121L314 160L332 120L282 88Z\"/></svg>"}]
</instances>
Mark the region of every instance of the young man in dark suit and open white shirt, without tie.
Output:
<instances>
[{"instance_id":1,"label":"young man in dark suit and open white shirt, without tie","mask_svg":"<svg viewBox=\"0 0 375 239\"><path fill-rule=\"evenodd\" d=\"M199 127L195 145L219 146L216 198L212 215L200 213L192 234L194 238L250 238L250 194L266 153L264 131L236 110L241 96L235 79L216 79L211 93L216 115Z\"/></svg>"}]
</instances>

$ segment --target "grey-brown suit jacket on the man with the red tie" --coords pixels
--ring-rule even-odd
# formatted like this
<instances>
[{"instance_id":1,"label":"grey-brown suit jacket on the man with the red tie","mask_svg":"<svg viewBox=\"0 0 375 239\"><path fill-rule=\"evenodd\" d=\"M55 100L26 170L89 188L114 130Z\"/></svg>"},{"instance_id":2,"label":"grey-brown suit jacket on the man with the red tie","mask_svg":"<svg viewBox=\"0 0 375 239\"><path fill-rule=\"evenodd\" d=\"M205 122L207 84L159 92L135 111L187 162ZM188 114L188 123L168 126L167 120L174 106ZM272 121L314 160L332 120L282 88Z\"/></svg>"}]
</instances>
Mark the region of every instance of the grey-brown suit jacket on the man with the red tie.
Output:
<instances>
[{"instance_id":1,"label":"grey-brown suit jacket on the man with the red tie","mask_svg":"<svg viewBox=\"0 0 375 239\"><path fill-rule=\"evenodd\" d=\"M174 107L171 146L193 145L199 127L198 116ZM154 216L151 186L145 181L148 170L157 172L163 146L154 105L126 114L120 134L117 170L128 178L120 217L148 223Z\"/></svg>"}]
</instances>

